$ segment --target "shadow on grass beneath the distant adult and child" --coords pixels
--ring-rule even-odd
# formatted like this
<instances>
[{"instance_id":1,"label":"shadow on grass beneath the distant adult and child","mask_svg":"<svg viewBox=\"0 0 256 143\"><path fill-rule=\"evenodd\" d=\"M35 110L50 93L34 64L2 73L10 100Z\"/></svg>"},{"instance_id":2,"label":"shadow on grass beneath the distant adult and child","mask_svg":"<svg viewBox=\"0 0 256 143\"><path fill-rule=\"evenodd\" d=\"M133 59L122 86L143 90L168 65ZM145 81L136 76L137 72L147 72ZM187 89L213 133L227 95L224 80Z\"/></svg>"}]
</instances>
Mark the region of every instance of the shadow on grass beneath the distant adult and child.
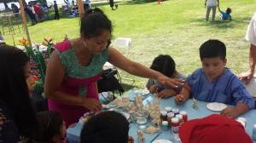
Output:
<instances>
[{"instance_id":1,"label":"shadow on grass beneath the distant adult and child","mask_svg":"<svg viewBox=\"0 0 256 143\"><path fill-rule=\"evenodd\" d=\"M193 19L190 20L191 22L195 23L196 26L209 26L212 28L235 28L236 25L247 25L249 24L249 20L251 20L251 17L244 17L241 19L235 19L235 20L219 20L218 17L216 17L214 21L208 20L205 21L205 19Z\"/></svg>"}]
</instances>

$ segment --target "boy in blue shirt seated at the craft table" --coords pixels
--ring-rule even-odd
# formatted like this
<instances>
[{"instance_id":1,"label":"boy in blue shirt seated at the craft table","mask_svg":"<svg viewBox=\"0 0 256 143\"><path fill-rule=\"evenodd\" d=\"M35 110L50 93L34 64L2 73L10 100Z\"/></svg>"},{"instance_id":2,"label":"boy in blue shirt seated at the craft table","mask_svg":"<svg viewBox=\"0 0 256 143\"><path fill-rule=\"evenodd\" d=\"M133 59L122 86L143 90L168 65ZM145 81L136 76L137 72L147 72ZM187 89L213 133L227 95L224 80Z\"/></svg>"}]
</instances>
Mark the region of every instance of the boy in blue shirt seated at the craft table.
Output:
<instances>
[{"instance_id":1,"label":"boy in blue shirt seated at the craft table","mask_svg":"<svg viewBox=\"0 0 256 143\"><path fill-rule=\"evenodd\" d=\"M226 47L218 40L208 40L200 47L202 67L187 77L187 83L175 97L176 104L190 98L207 102L219 102L234 107L226 107L220 114L237 117L253 109L254 101L247 89L229 68Z\"/></svg>"}]
</instances>

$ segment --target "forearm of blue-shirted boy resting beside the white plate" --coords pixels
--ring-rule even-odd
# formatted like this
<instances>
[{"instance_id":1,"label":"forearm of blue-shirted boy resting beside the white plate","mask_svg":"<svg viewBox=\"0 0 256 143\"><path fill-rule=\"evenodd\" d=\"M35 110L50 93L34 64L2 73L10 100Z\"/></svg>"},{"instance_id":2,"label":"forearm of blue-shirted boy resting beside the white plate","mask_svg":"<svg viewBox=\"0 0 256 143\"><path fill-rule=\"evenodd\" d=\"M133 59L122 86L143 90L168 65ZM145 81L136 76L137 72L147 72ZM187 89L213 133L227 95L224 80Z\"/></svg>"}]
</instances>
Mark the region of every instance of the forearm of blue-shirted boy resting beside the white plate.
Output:
<instances>
[{"instance_id":1,"label":"forearm of blue-shirted boy resting beside the white plate","mask_svg":"<svg viewBox=\"0 0 256 143\"><path fill-rule=\"evenodd\" d=\"M238 117L244 112L247 112L249 110L249 106L247 106L244 103L236 103L235 107L227 107L222 112L220 112L221 115L224 115L226 117Z\"/></svg>"}]
</instances>

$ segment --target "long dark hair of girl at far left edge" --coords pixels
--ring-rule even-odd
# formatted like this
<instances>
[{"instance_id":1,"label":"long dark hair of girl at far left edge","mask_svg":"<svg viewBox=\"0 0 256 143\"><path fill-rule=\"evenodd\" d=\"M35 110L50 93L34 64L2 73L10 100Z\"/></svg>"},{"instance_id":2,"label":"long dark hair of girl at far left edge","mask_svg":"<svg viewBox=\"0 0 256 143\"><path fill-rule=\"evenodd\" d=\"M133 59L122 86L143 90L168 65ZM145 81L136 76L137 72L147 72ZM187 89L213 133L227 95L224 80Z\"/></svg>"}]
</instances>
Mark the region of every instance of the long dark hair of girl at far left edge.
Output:
<instances>
[{"instance_id":1,"label":"long dark hair of girl at far left edge","mask_svg":"<svg viewBox=\"0 0 256 143\"><path fill-rule=\"evenodd\" d=\"M21 49L0 45L0 104L13 113L21 136L39 139L42 126L32 107L24 71L28 62Z\"/></svg>"}]
</instances>

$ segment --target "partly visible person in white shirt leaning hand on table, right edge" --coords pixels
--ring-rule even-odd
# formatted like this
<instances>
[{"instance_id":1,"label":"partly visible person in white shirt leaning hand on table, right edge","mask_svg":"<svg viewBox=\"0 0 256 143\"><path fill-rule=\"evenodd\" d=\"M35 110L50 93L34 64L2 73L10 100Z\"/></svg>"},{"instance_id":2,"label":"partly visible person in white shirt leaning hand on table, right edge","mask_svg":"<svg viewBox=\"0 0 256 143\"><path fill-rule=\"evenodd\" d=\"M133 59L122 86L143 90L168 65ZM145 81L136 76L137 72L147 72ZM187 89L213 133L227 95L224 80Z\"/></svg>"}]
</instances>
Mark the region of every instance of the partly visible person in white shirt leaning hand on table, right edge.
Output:
<instances>
[{"instance_id":1,"label":"partly visible person in white shirt leaning hand on table, right edge","mask_svg":"<svg viewBox=\"0 0 256 143\"><path fill-rule=\"evenodd\" d=\"M241 73L238 78L246 83L250 83L253 78L256 65L256 12L248 25L246 40L251 43L249 52L249 71Z\"/></svg>"}]
</instances>

